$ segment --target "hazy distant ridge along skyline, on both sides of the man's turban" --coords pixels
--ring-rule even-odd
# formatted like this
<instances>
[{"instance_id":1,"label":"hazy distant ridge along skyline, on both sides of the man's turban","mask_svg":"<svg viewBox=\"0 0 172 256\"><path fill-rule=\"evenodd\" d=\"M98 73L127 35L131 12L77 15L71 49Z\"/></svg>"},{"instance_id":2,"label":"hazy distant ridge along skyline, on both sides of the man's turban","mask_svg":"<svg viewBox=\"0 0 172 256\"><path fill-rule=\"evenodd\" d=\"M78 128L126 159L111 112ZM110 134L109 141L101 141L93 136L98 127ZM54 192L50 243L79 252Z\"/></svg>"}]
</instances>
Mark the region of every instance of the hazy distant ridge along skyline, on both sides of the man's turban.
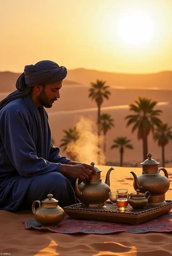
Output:
<instances>
[{"instance_id":1,"label":"hazy distant ridge along skyline, on both sides of the man's turban","mask_svg":"<svg viewBox=\"0 0 172 256\"><path fill-rule=\"evenodd\" d=\"M13 90L19 76L20 74L17 73L0 72L0 92L5 92L5 81L10 91ZM123 74L79 68L68 70L64 84L90 85L90 81L95 81L96 79L105 80L108 85L116 86L117 88L155 88L172 90L172 71L163 71L153 74Z\"/></svg>"}]
</instances>

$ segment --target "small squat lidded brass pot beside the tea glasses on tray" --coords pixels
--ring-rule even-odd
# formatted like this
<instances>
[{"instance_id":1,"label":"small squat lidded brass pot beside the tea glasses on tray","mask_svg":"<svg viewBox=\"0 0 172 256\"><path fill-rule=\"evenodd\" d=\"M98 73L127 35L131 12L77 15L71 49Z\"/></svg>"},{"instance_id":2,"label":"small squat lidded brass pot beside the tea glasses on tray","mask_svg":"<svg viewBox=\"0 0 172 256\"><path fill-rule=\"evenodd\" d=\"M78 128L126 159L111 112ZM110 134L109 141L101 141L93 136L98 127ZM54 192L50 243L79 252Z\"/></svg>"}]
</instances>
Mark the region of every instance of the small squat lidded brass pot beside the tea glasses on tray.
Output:
<instances>
[{"instance_id":1,"label":"small squat lidded brass pot beside the tea glasses on tray","mask_svg":"<svg viewBox=\"0 0 172 256\"><path fill-rule=\"evenodd\" d=\"M136 193L129 193L130 198L128 199L128 203L135 210L144 208L151 195L149 191L146 191L145 193L139 193L139 191L139 189L136 189Z\"/></svg>"}]
</instances>

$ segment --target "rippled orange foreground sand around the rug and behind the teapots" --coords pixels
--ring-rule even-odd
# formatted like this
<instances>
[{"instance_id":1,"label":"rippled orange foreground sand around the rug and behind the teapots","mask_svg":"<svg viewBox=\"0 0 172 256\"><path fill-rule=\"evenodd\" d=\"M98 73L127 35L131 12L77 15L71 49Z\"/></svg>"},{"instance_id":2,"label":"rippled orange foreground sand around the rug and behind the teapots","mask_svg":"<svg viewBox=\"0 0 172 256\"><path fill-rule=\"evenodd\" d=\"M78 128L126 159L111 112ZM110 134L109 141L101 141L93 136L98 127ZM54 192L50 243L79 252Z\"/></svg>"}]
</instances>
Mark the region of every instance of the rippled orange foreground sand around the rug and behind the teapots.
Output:
<instances>
[{"instance_id":1,"label":"rippled orange foreground sand around the rug and behind the teapots","mask_svg":"<svg viewBox=\"0 0 172 256\"><path fill-rule=\"evenodd\" d=\"M102 168L102 178L111 166ZM141 174L142 168L114 167L110 174L111 191L127 187L133 192L130 171ZM172 168L167 168L169 180ZM166 194L172 199L172 187ZM26 230L23 220L33 219L32 212L11 213L0 211L0 253L12 256L169 256L172 255L172 235L169 233L132 234L122 232L114 235L64 235L37 230Z\"/></svg>"}]
</instances>

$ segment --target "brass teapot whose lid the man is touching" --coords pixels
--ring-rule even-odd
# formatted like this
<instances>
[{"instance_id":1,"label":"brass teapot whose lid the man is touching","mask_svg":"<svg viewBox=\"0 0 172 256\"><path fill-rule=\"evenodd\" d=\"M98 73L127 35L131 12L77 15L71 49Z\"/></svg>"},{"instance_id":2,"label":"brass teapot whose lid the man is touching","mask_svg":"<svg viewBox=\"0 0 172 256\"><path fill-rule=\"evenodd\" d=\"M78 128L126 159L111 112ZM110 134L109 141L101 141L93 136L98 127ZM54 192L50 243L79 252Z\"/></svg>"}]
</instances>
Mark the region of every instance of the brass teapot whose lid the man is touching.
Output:
<instances>
[{"instance_id":1,"label":"brass teapot whose lid the man is touching","mask_svg":"<svg viewBox=\"0 0 172 256\"><path fill-rule=\"evenodd\" d=\"M94 162L91 165L94 166ZM109 198L110 192L110 172L114 168L110 168L106 174L105 183L102 182L101 172L98 167L95 167L96 174L92 179L86 180L78 185L78 179L75 185L75 194L83 207L102 207L105 206L106 200Z\"/></svg>"}]
</instances>

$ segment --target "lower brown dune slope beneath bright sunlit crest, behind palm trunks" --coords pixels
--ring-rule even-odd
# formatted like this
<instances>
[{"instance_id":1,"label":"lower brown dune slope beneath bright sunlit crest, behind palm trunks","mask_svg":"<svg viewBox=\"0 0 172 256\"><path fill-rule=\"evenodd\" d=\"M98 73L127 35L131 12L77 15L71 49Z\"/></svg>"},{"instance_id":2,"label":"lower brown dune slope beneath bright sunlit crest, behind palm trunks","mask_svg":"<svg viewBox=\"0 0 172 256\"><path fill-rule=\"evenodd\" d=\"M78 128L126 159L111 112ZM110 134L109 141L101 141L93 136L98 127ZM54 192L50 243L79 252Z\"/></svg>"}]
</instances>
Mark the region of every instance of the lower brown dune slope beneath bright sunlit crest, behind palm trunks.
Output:
<instances>
[{"instance_id":1,"label":"lower brown dune slope beneath bright sunlit crest, behind palm trunks","mask_svg":"<svg viewBox=\"0 0 172 256\"><path fill-rule=\"evenodd\" d=\"M156 107L157 109L163 110L163 114L161 115L161 120L163 122L167 122L169 126L172 126L171 112L172 105L164 104ZM126 120L124 118L130 114L127 106L115 106L115 107L107 107L105 110L102 109L102 113L111 114L112 118L115 120L115 127L112 128L107 135L107 160L112 162L119 161L119 150L113 149L110 150L112 145L112 141L116 137L127 136L131 139L131 143L134 145L134 150L125 150L124 153L124 161L125 162L142 162L142 141L137 140L137 133L131 133L131 127L126 128ZM55 145L60 145L60 140L64 135L64 129L68 129L69 127L73 127L79 120L80 117L89 118L93 121L93 131L94 123L97 120L97 109L87 109L87 110L78 110L78 111L59 111L56 113L49 114L49 123L52 129L52 137L55 140ZM148 137L148 151L150 151L154 158L157 161L161 162L161 148L157 146L157 143L152 141L152 135ZM65 153L61 149L61 154ZM152 158L153 158L152 157ZM165 157L166 159L172 159L172 143L170 142L167 147L165 147ZM94 161L94 159L90 158L90 162Z\"/></svg>"}]
</instances>

